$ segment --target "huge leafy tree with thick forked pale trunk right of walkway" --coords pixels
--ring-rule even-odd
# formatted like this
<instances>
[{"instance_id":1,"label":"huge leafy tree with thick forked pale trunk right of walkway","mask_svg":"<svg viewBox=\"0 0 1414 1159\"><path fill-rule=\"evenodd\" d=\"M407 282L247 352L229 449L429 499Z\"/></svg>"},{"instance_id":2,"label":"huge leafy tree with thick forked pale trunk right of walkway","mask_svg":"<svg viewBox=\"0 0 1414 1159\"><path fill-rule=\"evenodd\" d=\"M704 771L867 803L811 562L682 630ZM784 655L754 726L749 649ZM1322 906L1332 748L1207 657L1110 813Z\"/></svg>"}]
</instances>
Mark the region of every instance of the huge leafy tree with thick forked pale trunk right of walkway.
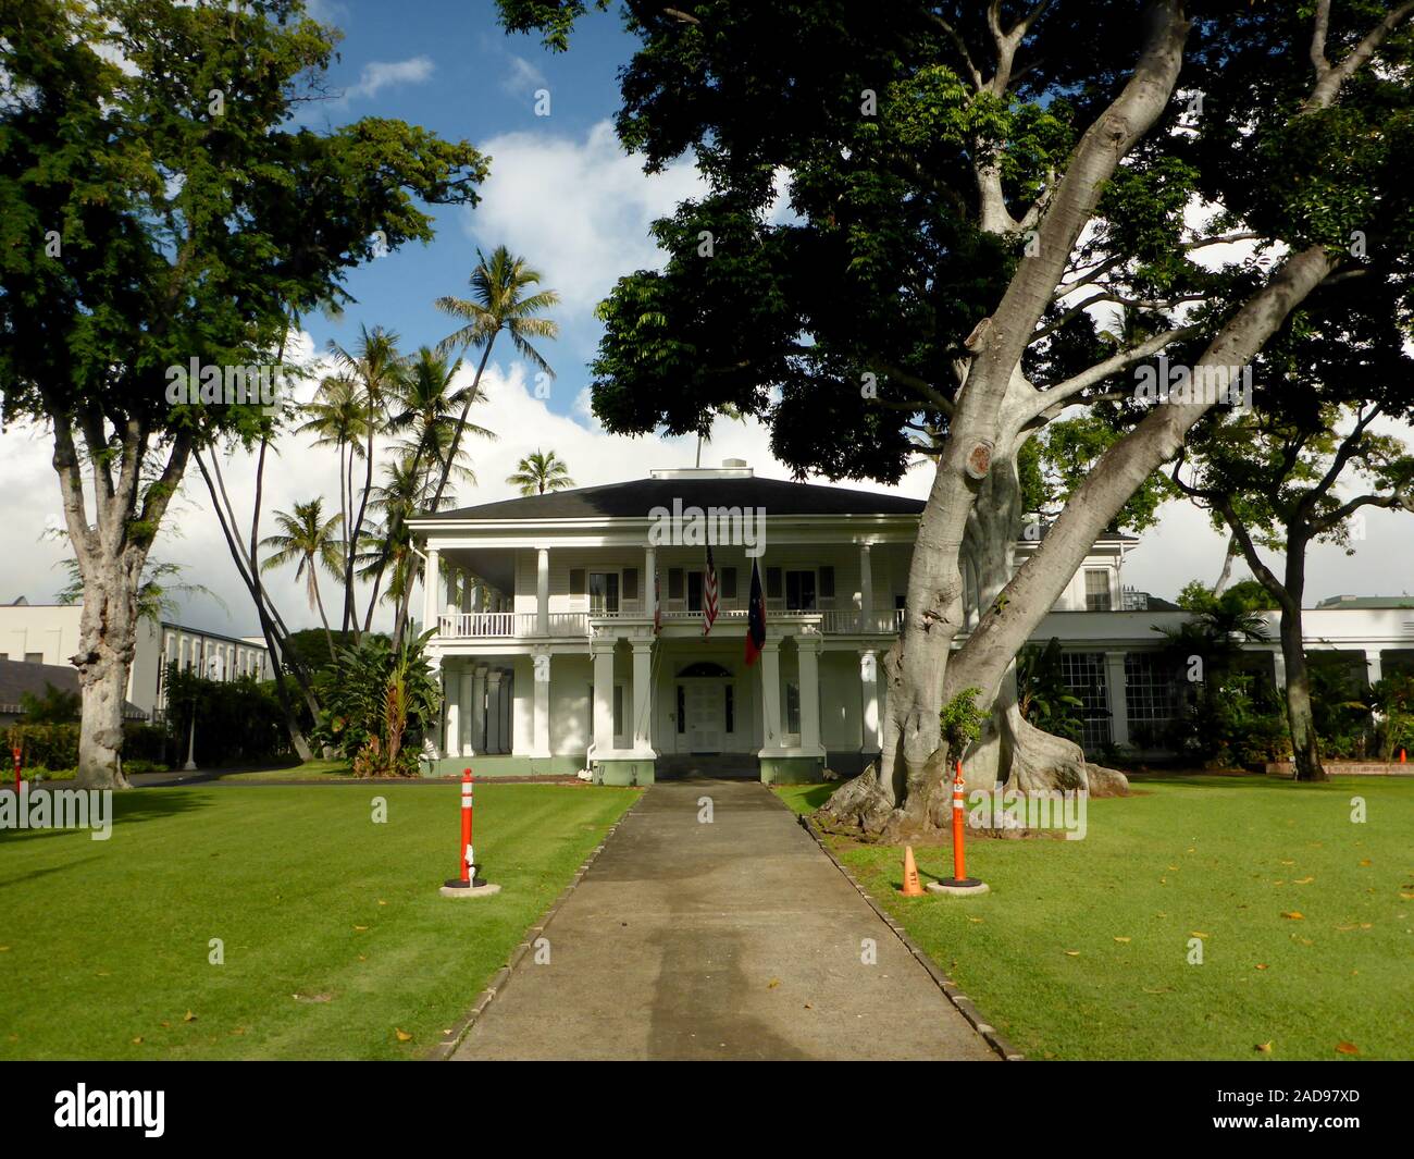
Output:
<instances>
[{"instance_id":1,"label":"huge leafy tree with thick forked pale trunk right of walkway","mask_svg":"<svg viewBox=\"0 0 1414 1159\"><path fill-rule=\"evenodd\" d=\"M553 48L584 11L501 0L508 30ZM1164 352L1227 388L1328 279L1408 284L1408 11L628 4L619 137L649 170L691 150L708 190L655 224L662 269L600 307L601 422L687 434L732 405L800 473L895 481L921 449L933 461L878 784L839 821L945 824L939 706L994 702L1096 535L1217 405L1152 405L1123 376ZM1124 433L954 651L969 526L1014 541L1021 447L1100 405ZM970 753L974 780L1114 783L1019 712L1007 725Z\"/></svg>"}]
</instances>

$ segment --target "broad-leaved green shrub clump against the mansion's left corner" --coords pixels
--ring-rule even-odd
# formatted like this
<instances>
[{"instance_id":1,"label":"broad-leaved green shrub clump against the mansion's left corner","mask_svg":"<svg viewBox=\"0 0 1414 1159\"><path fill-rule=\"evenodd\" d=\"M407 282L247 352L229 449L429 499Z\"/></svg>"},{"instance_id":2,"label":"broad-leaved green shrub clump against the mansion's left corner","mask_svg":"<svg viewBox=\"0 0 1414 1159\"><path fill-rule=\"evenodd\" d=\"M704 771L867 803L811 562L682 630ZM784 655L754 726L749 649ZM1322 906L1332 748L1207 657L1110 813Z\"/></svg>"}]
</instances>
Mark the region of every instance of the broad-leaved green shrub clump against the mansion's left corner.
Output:
<instances>
[{"instance_id":1,"label":"broad-leaved green shrub clump against the mansion's left corner","mask_svg":"<svg viewBox=\"0 0 1414 1159\"><path fill-rule=\"evenodd\" d=\"M426 658L431 637L428 631L395 647L385 635L363 635L321 674L317 739L351 761L356 775L417 775L421 740L441 708Z\"/></svg>"}]
</instances>

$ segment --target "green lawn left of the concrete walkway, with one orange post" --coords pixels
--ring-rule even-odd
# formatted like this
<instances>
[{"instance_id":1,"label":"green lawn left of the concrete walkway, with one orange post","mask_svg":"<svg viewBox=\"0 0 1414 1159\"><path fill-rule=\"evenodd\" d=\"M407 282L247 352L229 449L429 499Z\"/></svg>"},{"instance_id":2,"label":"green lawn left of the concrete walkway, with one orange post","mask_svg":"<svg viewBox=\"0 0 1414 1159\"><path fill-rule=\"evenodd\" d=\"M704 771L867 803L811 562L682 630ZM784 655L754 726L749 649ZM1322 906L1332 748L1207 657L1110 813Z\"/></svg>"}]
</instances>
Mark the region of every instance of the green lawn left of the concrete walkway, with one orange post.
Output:
<instances>
[{"instance_id":1,"label":"green lawn left of the concrete walkway, with one orange post","mask_svg":"<svg viewBox=\"0 0 1414 1159\"><path fill-rule=\"evenodd\" d=\"M635 798L478 784L478 901L437 893L452 785L150 788L106 842L0 832L0 1059L423 1056Z\"/></svg>"}]
</instances>

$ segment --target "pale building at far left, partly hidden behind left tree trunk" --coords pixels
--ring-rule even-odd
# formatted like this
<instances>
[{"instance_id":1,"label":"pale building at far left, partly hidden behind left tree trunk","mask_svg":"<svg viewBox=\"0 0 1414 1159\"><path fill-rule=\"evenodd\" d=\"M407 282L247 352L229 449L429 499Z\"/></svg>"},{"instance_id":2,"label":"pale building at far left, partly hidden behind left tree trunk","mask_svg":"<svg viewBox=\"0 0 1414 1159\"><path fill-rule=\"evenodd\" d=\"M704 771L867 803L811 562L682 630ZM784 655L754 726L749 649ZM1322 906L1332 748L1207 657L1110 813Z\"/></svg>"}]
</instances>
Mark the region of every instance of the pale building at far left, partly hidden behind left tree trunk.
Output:
<instances>
[{"instance_id":1,"label":"pale building at far left, partly hidden behind left tree trunk","mask_svg":"<svg viewBox=\"0 0 1414 1159\"><path fill-rule=\"evenodd\" d=\"M21 599L0 606L0 658L72 668L69 658L79 651L82 614L82 604L31 604ZM246 675L269 679L271 675L260 637L239 638L143 620L137 627L126 699L150 717L167 706L163 678L174 661L182 671L197 669L218 681Z\"/></svg>"}]
</instances>

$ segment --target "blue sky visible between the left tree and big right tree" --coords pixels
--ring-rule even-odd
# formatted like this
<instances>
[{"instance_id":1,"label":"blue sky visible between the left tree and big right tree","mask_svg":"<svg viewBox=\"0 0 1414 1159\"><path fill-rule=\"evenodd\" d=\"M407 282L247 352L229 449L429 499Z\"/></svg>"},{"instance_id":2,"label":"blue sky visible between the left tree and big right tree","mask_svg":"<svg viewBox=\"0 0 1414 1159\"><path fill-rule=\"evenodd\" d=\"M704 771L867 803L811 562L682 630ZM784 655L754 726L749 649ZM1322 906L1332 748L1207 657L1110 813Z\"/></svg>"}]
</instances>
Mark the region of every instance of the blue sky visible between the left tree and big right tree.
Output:
<instances>
[{"instance_id":1,"label":"blue sky visible between the left tree and big right tree","mask_svg":"<svg viewBox=\"0 0 1414 1159\"><path fill-rule=\"evenodd\" d=\"M594 126L614 116L615 72L636 42L612 11L591 11L577 28L571 50L557 54L544 50L536 37L506 35L491 0L320 0L310 7L345 34L339 61L328 76L331 91L342 92L342 99L314 105L301 120L322 126L361 116L399 117L481 149L508 136L523 139L523 147L492 157L491 178L482 191L498 204L509 195L508 183L518 177L510 168L536 142L547 149L574 149L588 140ZM534 113L534 92L542 88L550 92L550 116ZM532 232L506 231L505 214L496 208L484 214L437 207L436 217L434 242L404 246L354 272L348 289L358 303L342 320L307 320L320 345L329 338L352 342L361 323L397 331L406 348L437 341L452 323L431 301L438 294L465 292L477 246L489 249L505 232ZM624 225L642 226L642 221ZM534 238L505 241L547 275L549 286L559 287L551 275L560 255L549 248L515 245ZM625 265L615 273L632 267ZM595 273L595 283L611 282L609 270ZM567 296L566 309L556 311L561 338L542 351L559 375L550 408L561 413L570 410L588 382L585 364L600 334L591 306L583 293Z\"/></svg>"}]
</instances>

